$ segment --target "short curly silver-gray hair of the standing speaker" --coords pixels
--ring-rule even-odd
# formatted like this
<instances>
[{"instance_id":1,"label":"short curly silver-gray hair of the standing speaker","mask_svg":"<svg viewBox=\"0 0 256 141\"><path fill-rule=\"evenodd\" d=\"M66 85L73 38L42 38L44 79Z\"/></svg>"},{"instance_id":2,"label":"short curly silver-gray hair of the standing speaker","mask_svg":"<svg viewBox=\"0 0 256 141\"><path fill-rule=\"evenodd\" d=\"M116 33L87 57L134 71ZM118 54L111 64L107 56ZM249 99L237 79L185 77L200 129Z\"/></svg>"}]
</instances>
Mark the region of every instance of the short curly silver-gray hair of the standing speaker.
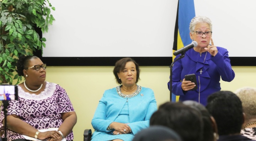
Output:
<instances>
[{"instance_id":1,"label":"short curly silver-gray hair of the standing speaker","mask_svg":"<svg viewBox=\"0 0 256 141\"><path fill-rule=\"evenodd\" d=\"M193 17L190 22L190 32L191 33L194 32L194 28L197 25L197 23L208 23L208 25L210 26L210 31L212 31L212 21L210 20L210 18L208 18L206 16L196 16L196 17Z\"/></svg>"}]
</instances>

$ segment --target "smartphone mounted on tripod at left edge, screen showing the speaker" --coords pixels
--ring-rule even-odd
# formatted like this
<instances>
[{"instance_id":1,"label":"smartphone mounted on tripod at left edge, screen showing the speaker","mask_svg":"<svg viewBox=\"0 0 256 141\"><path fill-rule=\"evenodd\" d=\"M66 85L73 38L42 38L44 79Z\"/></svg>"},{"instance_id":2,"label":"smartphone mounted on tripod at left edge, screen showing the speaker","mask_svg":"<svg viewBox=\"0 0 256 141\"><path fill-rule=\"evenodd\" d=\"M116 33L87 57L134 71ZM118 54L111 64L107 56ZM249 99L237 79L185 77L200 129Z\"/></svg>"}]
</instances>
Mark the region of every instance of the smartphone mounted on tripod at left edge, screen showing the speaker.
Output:
<instances>
[{"instance_id":1,"label":"smartphone mounted on tripod at left edge, screen showing the speaker","mask_svg":"<svg viewBox=\"0 0 256 141\"><path fill-rule=\"evenodd\" d=\"M0 101L18 100L17 85L0 85Z\"/></svg>"}]
</instances>

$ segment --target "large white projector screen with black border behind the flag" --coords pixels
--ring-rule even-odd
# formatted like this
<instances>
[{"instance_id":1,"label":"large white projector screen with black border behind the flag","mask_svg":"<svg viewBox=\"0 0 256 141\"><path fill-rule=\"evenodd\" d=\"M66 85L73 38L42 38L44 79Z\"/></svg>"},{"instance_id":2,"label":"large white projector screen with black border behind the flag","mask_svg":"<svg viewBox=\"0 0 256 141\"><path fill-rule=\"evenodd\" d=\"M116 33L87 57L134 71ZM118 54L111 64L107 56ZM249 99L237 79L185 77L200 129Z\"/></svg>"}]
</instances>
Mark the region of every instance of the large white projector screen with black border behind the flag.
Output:
<instances>
[{"instance_id":1,"label":"large white projector screen with black border behind the flag","mask_svg":"<svg viewBox=\"0 0 256 141\"><path fill-rule=\"evenodd\" d=\"M172 57L178 0L50 0L42 57ZM255 57L256 1L194 0L230 57ZM188 35L189 36L189 35Z\"/></svg>"}]
</instances>

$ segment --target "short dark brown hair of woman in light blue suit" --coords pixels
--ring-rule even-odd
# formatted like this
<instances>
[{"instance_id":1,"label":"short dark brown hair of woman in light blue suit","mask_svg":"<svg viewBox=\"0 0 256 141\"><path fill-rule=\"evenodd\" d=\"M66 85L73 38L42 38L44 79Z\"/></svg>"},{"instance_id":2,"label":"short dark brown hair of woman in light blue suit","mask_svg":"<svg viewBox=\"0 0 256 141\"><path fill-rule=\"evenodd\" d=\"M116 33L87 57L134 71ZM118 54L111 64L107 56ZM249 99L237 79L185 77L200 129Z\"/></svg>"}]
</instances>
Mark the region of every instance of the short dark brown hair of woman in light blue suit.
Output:
<instances>
[{"instance_id":1,"label":"short dark brown hair of woman in light blue suit","mask_svg":"<svg viewBox=\"0 0 256 141\"><path fill-rule=\"evenodd\" d=\"M116 62L116 65L114 66L113 73L114 73L114 76L116 77L117 83L119 83L119 84L122 84L122 81L118 78L117 73L119 73L120 71L122 71L125 68L127 62L133 62L136 66L137 76L136 76L135 83L137 83L140 79L139 78L139 73L140 73L139 65L132 58L126 57L126 58L122 58L122 59L118 60Z\"/></svg>"}]
</instances>

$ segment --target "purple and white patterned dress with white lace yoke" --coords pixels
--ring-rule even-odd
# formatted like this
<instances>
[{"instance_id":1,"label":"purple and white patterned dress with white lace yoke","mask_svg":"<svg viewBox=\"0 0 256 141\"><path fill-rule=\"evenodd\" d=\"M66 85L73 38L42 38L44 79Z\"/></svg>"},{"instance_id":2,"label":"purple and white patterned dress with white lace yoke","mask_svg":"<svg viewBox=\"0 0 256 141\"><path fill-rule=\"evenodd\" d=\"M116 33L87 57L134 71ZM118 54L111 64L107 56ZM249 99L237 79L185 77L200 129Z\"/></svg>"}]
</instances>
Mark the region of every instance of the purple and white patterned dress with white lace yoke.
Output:
<instances>
[{"instance_id":1,"label":"purple and white patterned dress with white lace yoke","mask_svg":"<svg viewBox=\"0 0 256 141\"><path fill-rule=\"evenodd\" d=\"M1 106L1 109L3 107ZM10 101L7 115L17 115L36 129L59 128L63 120L61 113L74 111L66 91L55 83L46 82L40 94L30 94L18 86L18 101ZM0 130L4 132L4 112L1 110ZM7 140L24 139L21 134L7 128ZM2 135L4 137L4 135ZM73 131L66 140L73 140Z\"/></svg>"}]
</instances>

